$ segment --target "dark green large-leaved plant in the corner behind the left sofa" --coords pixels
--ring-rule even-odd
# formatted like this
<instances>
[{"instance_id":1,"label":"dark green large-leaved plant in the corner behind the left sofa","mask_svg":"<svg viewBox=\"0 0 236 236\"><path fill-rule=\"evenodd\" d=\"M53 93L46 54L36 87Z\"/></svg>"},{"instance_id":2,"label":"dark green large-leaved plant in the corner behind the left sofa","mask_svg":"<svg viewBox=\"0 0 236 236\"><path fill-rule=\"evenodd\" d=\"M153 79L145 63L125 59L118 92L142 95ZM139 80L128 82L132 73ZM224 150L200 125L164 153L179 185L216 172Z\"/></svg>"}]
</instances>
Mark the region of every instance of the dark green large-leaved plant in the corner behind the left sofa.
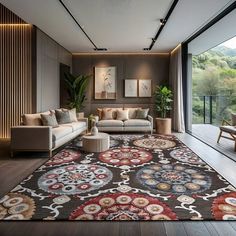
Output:
<instances>
[{"instance_id":1,"label":"dark green large-leaved plant in the corner behind the left sofa","mask_svg":"<svg viewBox=\"0 0 236 236\"><path fill-rule=\"evenodd\" d=\"M70 73L65 73L64 81L69 95L68 106L76 108L76 112L84 108L85 93L90 78L90 75L74 76Z\"/></svg>"}]
</instances>

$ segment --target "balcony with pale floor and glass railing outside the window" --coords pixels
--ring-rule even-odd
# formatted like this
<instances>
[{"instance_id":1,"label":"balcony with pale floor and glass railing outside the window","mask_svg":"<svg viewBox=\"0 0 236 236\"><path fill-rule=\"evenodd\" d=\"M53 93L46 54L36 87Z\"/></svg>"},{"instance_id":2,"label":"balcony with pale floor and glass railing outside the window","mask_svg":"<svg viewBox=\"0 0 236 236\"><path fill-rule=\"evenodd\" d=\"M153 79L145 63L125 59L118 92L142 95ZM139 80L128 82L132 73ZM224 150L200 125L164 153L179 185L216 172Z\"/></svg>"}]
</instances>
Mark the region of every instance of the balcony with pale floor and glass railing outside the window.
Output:
<instances>
[{"instance_id":1,"label":"balcony with pale floor and glass railing outside the window","mask_svg":"<svg viewBox=\"0 0 236 236\"><path fill-rule=\"evenodd\" d=\"M222 138L220 143L217 143L222 120L230 121L231 112L236 112L235 100L236 96L227 95L194 96L191 132L203 142L236 161L234 142Z\"/></svg>"}]
</instances>

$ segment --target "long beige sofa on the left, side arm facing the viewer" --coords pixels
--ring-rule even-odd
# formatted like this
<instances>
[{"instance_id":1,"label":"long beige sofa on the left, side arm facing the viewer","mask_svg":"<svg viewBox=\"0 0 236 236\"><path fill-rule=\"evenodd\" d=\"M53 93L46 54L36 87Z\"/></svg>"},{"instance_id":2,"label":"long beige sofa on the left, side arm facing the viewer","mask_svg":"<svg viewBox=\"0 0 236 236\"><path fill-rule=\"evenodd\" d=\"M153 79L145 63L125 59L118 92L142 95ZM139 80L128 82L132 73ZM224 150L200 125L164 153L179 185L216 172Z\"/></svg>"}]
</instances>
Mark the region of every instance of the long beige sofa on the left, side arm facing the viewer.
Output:
<instances>
[{"instance_id":1,"label":"long beige sofa on the left, side arm facing the viewer","mask_svg":"<svg viewBox=\"0 0 236 236\"><path fill-rule=\"evenodd\" d=\"M23 123L11 128L11 155L16 151L52 151L87 131L86 119L78 119L58 127L43 126L40 114L50 111L22 116Z\"/></svg>"}]
</instances>

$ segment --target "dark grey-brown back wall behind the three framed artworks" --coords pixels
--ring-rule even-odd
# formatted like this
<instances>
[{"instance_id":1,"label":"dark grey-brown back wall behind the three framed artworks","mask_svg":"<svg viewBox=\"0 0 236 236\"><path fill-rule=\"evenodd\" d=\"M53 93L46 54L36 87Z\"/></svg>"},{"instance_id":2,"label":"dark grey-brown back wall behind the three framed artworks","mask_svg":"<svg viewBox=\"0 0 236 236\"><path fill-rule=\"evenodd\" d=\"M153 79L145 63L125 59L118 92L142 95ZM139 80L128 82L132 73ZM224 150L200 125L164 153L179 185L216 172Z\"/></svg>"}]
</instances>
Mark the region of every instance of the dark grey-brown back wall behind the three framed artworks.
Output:
<instances>
[{"instance_id":1,"label":"dark grey-brown back wall behind the three framed artworks","mask_svg":"<svg viewBox=\"0 0 236 236\"><path fill-rule=\"evenodd\" d=\"M97 107L149 107L153 113L153 98L125 98L124 79L152 79L153 90L157 84L168 83L169 54L155 55L73 55L74 75L93 75L87 92L85 114L95 113ZM117 99L94 99L94 67L116 66Z\"/></svg>"}]
</instances>

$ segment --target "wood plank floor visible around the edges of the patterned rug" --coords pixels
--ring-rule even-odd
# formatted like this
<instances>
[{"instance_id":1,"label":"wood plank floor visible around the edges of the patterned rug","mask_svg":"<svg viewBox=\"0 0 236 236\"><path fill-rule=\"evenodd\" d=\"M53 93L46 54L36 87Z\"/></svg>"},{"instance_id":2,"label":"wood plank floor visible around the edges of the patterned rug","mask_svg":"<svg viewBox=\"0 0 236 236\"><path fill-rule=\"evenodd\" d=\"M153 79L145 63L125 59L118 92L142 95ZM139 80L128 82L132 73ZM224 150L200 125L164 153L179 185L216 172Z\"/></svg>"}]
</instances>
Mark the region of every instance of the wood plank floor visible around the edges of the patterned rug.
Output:
<instances>
[{"instance_id":1,"label":"wood plank floor visible around the edges of the patterned rug","mask_svg":"<svg viewBox=\"0 0 236 236\"><path fill-rule=\"evenodd\" d=\"M236 186L236 162L188 134L176 134L218 173ZM42 165L47 157L24 154L9 157L9 142L0 142L0 197ZM0 236L234 236L236 222L4 222Z\"/></svg>"}]
</instances>

